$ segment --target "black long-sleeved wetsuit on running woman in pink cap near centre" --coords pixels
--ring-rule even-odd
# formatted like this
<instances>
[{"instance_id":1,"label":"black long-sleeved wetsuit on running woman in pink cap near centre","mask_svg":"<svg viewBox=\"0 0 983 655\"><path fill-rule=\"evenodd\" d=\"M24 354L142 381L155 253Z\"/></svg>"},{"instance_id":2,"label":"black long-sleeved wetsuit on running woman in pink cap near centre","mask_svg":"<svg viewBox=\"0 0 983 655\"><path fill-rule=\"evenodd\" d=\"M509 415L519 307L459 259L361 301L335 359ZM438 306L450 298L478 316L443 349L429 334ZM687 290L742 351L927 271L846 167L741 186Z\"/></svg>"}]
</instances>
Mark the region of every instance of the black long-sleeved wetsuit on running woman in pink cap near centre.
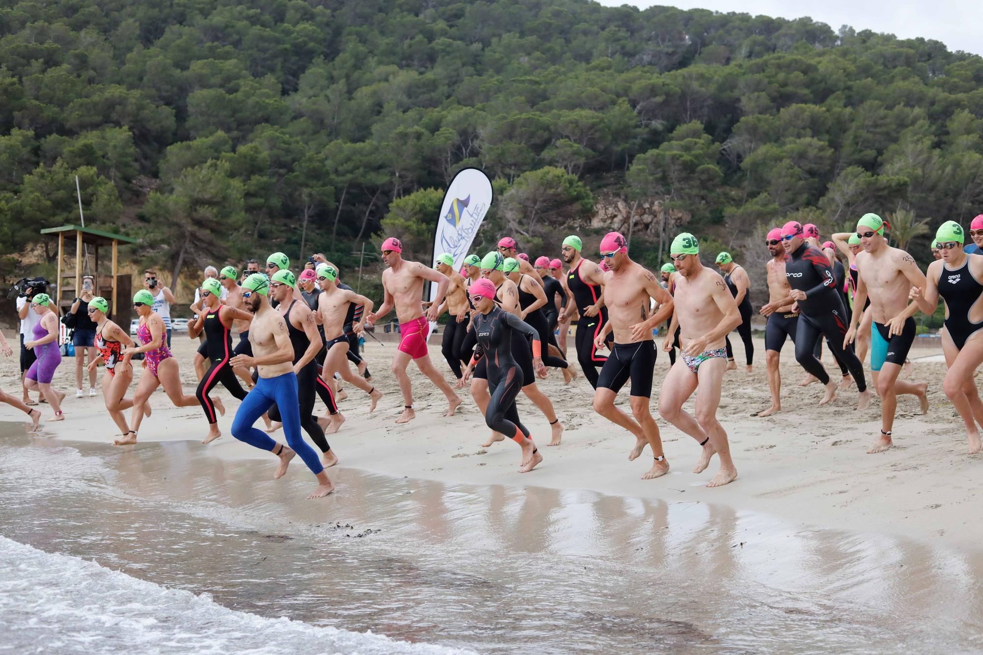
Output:
<instances>
[{"instance_id":1,"label":"black long-sleeved wetsuit on running woman in pink cap near centre","mask_svg":"<svg viewBox=\"0 0 983 655\"><path fill-rule=\"evenodd\" d=\"M539 334L500 307L492 308L488 314L476 314L473 331L478 339L475 357L485 364L492 394L485 411L486 425L512 439L519 437L520 431L528 438L529 430L519 421L515 406L515 398L526 382L522 367L513 357L513 347L517 338L528 345L531 341L539 341Z\"/></svg>"}]
</instances>

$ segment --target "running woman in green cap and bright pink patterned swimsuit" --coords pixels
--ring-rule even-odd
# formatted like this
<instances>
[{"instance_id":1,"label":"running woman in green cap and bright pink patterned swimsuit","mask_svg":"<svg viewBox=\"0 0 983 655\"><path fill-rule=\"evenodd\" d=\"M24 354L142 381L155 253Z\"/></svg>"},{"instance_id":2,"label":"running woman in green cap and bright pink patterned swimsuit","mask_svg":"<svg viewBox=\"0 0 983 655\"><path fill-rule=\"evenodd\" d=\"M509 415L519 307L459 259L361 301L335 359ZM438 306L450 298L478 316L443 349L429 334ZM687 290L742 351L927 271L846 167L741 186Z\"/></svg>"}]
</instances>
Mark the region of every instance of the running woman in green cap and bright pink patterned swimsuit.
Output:
<instances>
[{"instance_id":1,"label":"running woman in green cap and bright pink patterned swimsuit","mask_svg":"<svg viewBox=\"0 0 983 655\"><path fill-rule=\"evenodd\" d=\"M164 387L167 397L175 407L191 407L198 404L198 398L184 392L181 388L181 371L178 360L171 355L165 341L163 320L153 311L153 296L146 289L141 289L133 297L133 308L140 316L140 327L137 328L137 338L142 345L127 348L123 351L123 359L117 366L124 368L130 365L130 360L139 352L144 353L144 372L140 374L140 383L133 396L133 413L130 415L132 430L123 439L113 442L116 446L127 446L137 443L137 432L144 420L145 405L153 389ZM223 412L224 413L224 412Z\"/></svg>"}]
</instances>

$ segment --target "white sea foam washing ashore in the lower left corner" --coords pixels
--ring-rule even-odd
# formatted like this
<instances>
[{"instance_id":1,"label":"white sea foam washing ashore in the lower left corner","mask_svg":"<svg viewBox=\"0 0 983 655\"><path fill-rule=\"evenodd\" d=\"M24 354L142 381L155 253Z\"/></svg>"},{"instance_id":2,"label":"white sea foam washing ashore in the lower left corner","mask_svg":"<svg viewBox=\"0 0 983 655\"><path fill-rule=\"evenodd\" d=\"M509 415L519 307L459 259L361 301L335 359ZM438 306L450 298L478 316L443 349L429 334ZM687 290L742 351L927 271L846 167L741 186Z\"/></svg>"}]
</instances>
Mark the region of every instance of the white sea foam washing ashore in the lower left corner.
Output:
<instances>
[{"instance_id":1,"label":"white sea foam washing ashore in the lower left corner","mask_svg":"<svg viewBox=\"0 0 983 655\"><path fill-rule=\"evenodd\" d=\"M218 605L0 536L0 643L13 652L453 653Z\"/></svg>"}]
</instances>

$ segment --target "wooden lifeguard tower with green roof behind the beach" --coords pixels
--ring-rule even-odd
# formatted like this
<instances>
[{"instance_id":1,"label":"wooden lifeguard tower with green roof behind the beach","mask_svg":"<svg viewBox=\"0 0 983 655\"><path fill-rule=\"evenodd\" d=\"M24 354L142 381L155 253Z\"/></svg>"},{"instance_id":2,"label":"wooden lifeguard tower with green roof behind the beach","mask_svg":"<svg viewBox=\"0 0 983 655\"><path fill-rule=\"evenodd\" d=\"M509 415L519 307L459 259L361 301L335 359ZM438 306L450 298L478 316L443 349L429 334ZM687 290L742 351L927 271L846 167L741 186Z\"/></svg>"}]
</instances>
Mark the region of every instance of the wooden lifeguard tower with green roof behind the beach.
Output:
<instances>
[{"instance_id":1,"label":"wooden lifeguard tower with green roof behind the beach","mask_svg":"<svg viewBox=\"0 0 983 655\"><path fill-rule=\"evenodd\" d=\"M75 266L63 266L71 255L65 252L66 241L75 241ZM75 297L82 288L82 276L91 275L95 280L93 294L102 296L109 303L110 317L123 329L129 329L133 308L130 298L132 280L130 275L120 275L117 270L119 244L137 243L136 239L122 234L83 227L82 225L62 225L41 230L41 234L58 235L58 277L54 295L62 316L72 307ZM66 236L68 237L66 239ZM99 248L112 247L110 272L99 272ZM71 246L69 246L71 248ZM120 303L122 298L124 302Z\"/></svg>"}]
</instances>

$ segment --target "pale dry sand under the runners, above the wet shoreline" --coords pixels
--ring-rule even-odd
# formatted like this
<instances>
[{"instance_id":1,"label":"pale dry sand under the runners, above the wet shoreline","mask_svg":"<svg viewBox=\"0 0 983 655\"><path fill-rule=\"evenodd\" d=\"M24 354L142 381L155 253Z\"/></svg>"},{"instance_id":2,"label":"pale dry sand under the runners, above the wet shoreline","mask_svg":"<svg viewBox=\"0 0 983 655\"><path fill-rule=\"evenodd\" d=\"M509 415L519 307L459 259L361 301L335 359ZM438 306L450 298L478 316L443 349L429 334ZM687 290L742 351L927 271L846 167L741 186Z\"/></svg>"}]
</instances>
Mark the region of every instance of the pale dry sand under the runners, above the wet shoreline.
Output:
<instances>
[{"instance_id":1,"label":"pale dry sand under the runners, above the wet shoreline","mask_svg":"<svg viewBox=\"0 0 983 655\"><path fill-rule=\"evenodd\" d=\"M436 338L432 338L431 346L434 363L446 370ZM732 340L736 359L741 362L740 340ZM569 343L572 347L572 338ZM186 334L174 336L187 392L196 384L191 361L197 345L198 341ZM868 410L858 412L856 388L850 387L840 392L832 406L818 406L822 396L818 385L797 387L804 374L794 362L791 345L786 344L782 352L784 411L765 419L752 416L770 404L761 339L755 339L755 348L754 373L744 373L740 367L728 372L724 380L719 416L730 438L739 477L719 489L704 487L717 469L717 460L706 472L693 474L699 448L658 417L671 471L657 480L641 480L651 465L649 450L633 462L627 460L634 438L593 412L592 390L583 376L566 387L552 371L547 381L540 382L566 426L560 447L546 447L548 422L520 395L520 415L545 456L543 464L529 474L517 472L519 448L514 444L506 441L487 449L479 447L489 430L466 391L461 391L465 403L458 414L445 418L442 394L413 367L417 418L408 425L396 425L403 402L388 370L395 350L391 343L370 342L367 347L376 376L373 384L386 393L376 412L369 415L368 396L349 387L348 399L340 403L347 422L328 440L340 458L339 466L395 476L714 503L736 510L765 511L803 525L884 532L978 548L983 522L978 520L976 490L983 455L967 454L961 422L942 392L946 367L939 361L939 350L911 353L915 362L912 378L929 383L928 414L918 413L913 396L901 397L894 430L896 447L869 455L867 447L880 430L879 401L875 398ZM838 372L828 351L826 360L827 370ZM654 396L658 396L667 367L668 358L660 353ZM74 397L74 360L64 360L55 383L70 394L64 403L66 420L44 425L42 437L101 442L112 447L116 429L104 412L101 394ZM16 357L0 360L0 385L8 392L19 392ZM229 411L219 421L223 438L206 447L208 452L222 458L265 458L273 467L270 454L231 437L229 429L238 403L224 389L220 395ZM627 404L627 389L623 389L619 403ZM175 408L159 390L151 404L153 415L144 421L142 443L200 441L204 437L207 425L201 408ZM50 415L46 405L41 408L45 417ZM692 401L687 408L692 410ZM318 403L317 411L321 410ZM0 419L20 420L21 416L8 405L0 405ZM273 437L283 441L282 432ZM295 460L289 475L308 474L300 460Z\"/></svg>"}]
</instances>

